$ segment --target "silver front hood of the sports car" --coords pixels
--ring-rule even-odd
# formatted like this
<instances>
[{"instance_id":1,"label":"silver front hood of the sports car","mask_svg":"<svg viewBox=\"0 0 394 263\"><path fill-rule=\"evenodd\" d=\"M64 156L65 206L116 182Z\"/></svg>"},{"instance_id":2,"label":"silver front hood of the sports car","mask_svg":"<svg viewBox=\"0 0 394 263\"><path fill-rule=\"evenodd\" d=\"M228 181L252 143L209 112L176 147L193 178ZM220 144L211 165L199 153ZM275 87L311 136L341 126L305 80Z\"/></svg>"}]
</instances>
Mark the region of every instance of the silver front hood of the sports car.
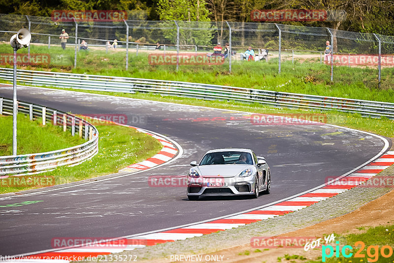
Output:
<instances>
[{"instance_id":1,"label":"silver front hood of the sports car","mask_svg":"<svg viewBox=\"0 0 394 263\"><path fill-rule=\"evenodd\" d=\"M234 177L246 168L253 167L250 164L210 164L197 166L200 175L205 178Z\"/></svg>"}]
</instances>

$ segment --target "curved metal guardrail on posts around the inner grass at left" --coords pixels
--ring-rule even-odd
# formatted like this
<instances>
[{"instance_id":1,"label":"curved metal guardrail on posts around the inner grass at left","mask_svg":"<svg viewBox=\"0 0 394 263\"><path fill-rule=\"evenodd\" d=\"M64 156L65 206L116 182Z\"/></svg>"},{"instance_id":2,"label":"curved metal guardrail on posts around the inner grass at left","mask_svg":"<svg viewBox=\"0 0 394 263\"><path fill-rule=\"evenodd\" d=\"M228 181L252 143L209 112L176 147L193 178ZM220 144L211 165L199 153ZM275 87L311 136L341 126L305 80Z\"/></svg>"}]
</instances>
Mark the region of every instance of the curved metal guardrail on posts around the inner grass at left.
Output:
<instances>
[{"instance_id":1,"label":"curved metal guardrail on posts around the inner grass at left","mask_svg":"<svg viewBox=\"0 0 394 263\"><path fill-rule=\"evenodd\" d=\"M84 136L89 140L81 145L51 152L0 156L0 178L8 175L45 172L57 166L76 165L97 154L99 132L96 127L85 120L66 112L22 101L18 101L18 112L29 115L31 120L41 117L43 125L46 122L52 122L54 125L63 126L64 131L68 128L71 134L74 135L77 132L80 137ZM0 114L12 115L11 99L0 98Z\"/></svg>"}]
</instances>

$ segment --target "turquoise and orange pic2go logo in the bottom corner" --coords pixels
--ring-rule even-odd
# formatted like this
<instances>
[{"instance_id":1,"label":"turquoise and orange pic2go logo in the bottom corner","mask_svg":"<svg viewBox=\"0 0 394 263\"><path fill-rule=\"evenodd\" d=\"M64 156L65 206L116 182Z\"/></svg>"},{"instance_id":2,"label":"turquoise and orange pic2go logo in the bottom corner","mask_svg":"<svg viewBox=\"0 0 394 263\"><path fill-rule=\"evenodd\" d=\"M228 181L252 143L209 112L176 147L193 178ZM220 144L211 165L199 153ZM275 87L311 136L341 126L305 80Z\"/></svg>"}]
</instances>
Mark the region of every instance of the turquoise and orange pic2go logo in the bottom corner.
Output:
<instances>
[{"instance_id":1,"label":"turquoise and orange pic2go logo in the bottom corner","mask_svg":"<svg viewBox=\"0 0 394 263\"><path fill-rule=\"evenodd\" d=\"M339 252L341 252L342 256L345 258L351 258L353 253L350 250L353 250L352 246L346 245L343 246L342 249L339 248L339 241L336 241L335 246L335 257L339 258ZM355 258L365 258L365 254L362 251L365 248L365 244L362 241L357 241L354 243L356 247L361 246L359 250L354 253ZM327 254L328 251L328 254ZM380 248L379 246L370 245L366 249L366 255L368 256L368 262L377 262L379 259L379 252L383 258L390 258L393 255L393 248L391 246L385 245ZM331 258L334 255L334 248L331 245L323 245L322 246L322 262L326 262L326 259Z\"/></svg>"}]
</instances>

